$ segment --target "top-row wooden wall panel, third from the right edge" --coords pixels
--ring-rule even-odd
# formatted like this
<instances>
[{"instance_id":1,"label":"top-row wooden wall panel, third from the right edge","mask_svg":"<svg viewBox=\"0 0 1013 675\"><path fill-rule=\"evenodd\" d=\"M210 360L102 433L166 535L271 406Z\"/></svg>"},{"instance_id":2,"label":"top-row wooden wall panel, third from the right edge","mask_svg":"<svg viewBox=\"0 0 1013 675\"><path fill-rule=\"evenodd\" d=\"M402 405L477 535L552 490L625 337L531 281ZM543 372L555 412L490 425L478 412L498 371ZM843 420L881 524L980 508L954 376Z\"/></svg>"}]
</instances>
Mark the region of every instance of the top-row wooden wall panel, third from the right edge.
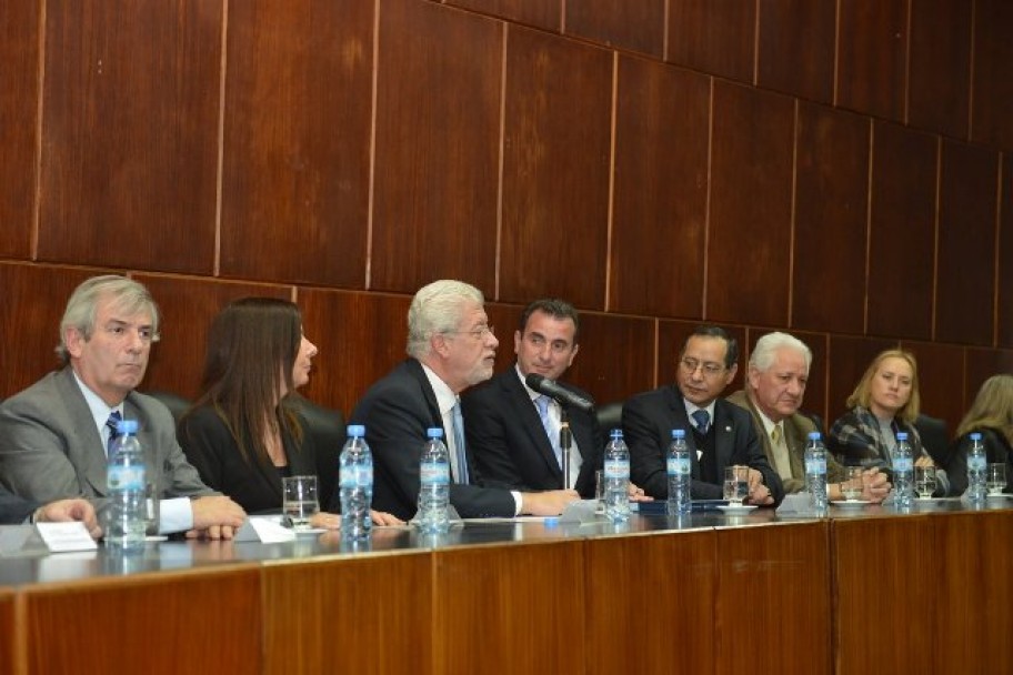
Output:
<instances>
[{"instance_id":1,"label":"top-row wooden wall panel, third from the right edge","mask_svg":"<svg viewBox=\"0 0 1013 675\"><path fill-rule=\"evenodd\" d=\"M904 121L909 0L840 0L835 103Z\"/></svg>"}]
</instances>

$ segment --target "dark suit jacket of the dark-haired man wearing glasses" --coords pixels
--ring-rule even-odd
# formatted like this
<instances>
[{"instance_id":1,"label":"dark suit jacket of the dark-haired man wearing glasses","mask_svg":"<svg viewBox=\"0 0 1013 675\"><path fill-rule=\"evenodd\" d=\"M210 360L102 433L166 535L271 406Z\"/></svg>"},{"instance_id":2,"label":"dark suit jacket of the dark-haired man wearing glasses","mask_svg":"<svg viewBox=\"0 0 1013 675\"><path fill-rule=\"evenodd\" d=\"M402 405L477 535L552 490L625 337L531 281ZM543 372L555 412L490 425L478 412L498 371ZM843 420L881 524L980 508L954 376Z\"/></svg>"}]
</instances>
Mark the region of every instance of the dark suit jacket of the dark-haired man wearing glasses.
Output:
<instances>
[{"instance_id":1,"label":"dark suit jacket of the dark-haired man wearing glasses","mask_svg":"<svg viewBox=\"0 0 1013 675\"><path fill-rule=\"evenodd\" d=\"M744 464L763 475L763 483L774 496L774 503L784 498L784 487L766 457L752 420L746 411L718 399L714 402L714 451L718 453L718 472L725 466ZM672 441L672 430L686 430L692 464L691 493L694 500L720 500L721 484L704 483L700 480L700 463L696 460L696 442L691 433L689 415L682 393L673 385L638 394L623 406L623 435L630 446L630 480L643 487L655 500L669 494L669 478L665 471L665 452Z\"/></svg>"}]
</instances>

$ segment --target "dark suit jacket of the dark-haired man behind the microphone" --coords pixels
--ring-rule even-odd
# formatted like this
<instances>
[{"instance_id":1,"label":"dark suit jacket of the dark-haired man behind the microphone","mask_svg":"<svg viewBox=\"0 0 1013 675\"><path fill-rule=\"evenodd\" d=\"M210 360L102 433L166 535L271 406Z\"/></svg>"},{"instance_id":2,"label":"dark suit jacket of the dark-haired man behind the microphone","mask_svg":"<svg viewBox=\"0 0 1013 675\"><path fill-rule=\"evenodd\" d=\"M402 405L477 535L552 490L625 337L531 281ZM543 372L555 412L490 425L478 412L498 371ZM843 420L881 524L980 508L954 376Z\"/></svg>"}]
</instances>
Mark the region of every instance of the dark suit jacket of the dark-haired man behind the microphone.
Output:
<instances>
[{"instance_id":1,"label":"dark suit jacket of the dark-haired man behind the microphone","mask_svg":"<svg viewBox=\"0 0 1013 675\"><path fill-rule=\"evenodd\" d=\"M585 399L575 386L560 383ZM510 490L562 490L563 472L552 451L545 427L516 369L461 396L468 452L487 486ZM569 411L570 430L582 456L576 491L594 496L594 471L602 467L604 437L594 415Z\"/></svg>"}]
</instances>

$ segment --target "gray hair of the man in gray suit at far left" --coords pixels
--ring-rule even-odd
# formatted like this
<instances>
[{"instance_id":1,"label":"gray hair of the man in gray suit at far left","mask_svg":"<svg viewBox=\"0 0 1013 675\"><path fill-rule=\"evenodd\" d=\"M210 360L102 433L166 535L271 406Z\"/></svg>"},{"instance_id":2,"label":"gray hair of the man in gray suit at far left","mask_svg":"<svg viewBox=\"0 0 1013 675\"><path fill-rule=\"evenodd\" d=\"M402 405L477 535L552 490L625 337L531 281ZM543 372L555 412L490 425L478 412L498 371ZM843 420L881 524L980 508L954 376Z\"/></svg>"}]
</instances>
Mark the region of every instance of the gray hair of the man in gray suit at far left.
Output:
<instances>
[{"instance_id":1,"label":"gray hair of the man in gray suit at far left","mask_svg":"<svg viewBox=\"0 0 1013 675\"><path fill-rule=\"evenodd\" d=\"M99 301L109 296L114 299L117 309L124 314L133 315L142 312L151 314L152 342L158 341L158 305L152 300L148 289L132 279L117 274L92 276L74 289L70 300L67 301L67 309L63 310L57 356L60 357L64 365L70 362L70 353L67 351L67 330L76 329L84 340L90 340L91 334L94 332Z\"/></svg>"}]
</instances>

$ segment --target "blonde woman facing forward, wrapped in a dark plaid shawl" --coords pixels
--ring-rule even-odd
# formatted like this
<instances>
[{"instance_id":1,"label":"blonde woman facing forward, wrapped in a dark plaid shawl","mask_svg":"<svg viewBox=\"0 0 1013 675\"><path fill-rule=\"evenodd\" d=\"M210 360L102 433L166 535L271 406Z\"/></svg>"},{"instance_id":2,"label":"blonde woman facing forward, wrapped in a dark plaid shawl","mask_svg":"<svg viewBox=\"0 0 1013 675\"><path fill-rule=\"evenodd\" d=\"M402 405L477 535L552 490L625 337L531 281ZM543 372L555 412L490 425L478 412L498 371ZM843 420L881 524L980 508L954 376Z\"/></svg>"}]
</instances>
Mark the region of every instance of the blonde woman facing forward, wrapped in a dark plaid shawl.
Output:
<instances>
[{"instance_id":1,"label":"blonde woman facing forward, wrapped in a dark plaid shawl","mask_svg":"<svg viewBox=\"0 0 1013 675\"><path fill-rule=\"evenodd\" d=\"M901 349L880 352L847 397L851 410L831 426L828 447L842 464L877 466L892 481L896 435L905 432L915 466L932 466L934 462L914 427L920 404L914 354ZM935 495L945 495L950 492L946 472L940 470L937 476Z\"/></svg>"}]
</instances>

